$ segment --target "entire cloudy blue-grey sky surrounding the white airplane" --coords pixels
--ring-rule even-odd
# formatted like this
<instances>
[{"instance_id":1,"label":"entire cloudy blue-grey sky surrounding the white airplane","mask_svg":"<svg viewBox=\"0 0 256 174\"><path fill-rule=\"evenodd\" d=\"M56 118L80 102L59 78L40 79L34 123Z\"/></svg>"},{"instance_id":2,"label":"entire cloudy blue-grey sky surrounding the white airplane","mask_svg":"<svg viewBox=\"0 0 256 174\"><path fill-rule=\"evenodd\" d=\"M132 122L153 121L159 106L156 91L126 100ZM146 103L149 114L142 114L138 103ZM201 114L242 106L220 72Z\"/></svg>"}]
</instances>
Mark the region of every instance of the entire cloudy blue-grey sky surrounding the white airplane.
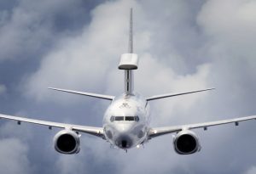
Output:
<instances>
[{"instance_id":1,"label":"entire cloudy blue-grey sky surrounding the white airplane","mask_svg":"<svg viewBox=\"0 0 256 174\"><path fill-rule=\"evenodd\" d=\"M102 126L109 102L49 91L61 87L119 95L134 14L135 89L143 96L207 87L216 90L150 103L151 126L174 126L256 115L255 0L2 0L0 113ZM202 149L179 155L172 135L141 149L111 149L82 134L79 154L55 152L48 130L0 122L0 168L30 173L256 172L256 122L195 130Z\"/></svg>"}]
</instances>

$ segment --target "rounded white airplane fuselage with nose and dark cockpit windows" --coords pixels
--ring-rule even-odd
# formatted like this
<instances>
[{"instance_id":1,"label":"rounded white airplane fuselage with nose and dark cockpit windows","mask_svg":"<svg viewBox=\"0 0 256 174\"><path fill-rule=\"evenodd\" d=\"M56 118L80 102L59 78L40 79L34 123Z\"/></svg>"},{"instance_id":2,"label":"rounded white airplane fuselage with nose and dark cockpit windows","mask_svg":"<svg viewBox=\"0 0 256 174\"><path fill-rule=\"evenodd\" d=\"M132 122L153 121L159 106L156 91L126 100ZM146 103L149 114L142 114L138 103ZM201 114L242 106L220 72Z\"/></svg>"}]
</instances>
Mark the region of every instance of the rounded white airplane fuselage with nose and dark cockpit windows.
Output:
<instances>
[{"instance_id":1,"label":"rounded white airplane fuselage with nose and dark cockpit windows","mask_svg":"<svg viewBox=\"0 0 256 174\"><path fill-rule=\"evenodd\" d=\"M148 102L138 93L113 99L103 118L105 138L120 149L131 149L148 138Z\"/></svg>"}]
</instances>

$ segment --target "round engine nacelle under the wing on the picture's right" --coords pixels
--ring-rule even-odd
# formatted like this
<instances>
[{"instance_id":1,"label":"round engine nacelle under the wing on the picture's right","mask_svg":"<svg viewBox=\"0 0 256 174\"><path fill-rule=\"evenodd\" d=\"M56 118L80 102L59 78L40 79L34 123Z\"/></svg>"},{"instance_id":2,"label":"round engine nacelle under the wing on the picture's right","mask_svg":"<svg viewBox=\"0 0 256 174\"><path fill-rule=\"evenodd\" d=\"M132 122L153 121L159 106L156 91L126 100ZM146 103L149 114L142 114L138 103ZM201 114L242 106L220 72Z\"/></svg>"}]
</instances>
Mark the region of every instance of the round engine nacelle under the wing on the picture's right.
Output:
<instances>
[{"instance_id":1,"label":"round engine nacelle under the wing on the picture's right","mask_svg":"<svg viewBox=\"0 0 256 174\"><path fill-rule=\"evenodd\" d=\"M201 145L195 132L183 130L173 138L174 149L177 154L194 154L201 150Z\"/></svg>"}]
</instances>

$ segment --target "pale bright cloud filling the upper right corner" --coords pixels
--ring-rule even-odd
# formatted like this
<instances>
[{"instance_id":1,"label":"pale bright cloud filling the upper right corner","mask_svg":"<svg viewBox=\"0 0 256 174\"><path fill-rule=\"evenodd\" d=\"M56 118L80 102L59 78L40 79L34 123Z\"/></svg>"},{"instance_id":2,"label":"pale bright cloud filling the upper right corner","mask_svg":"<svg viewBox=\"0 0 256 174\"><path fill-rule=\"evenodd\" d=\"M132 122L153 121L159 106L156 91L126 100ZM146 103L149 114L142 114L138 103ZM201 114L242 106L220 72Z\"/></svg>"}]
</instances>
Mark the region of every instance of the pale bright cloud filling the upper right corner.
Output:
<instances>
[{"instance_id":1,"label":"pale bright cloud filling the upper right corner","mask_svg":"<svg viewBox=\"0 0 256 174\"><path fill-rule=\"evenodd\" d=\"M208 1L202 6L197 21L207 36L210 36L213 43L211 46L214 48L212 51L222 49L222 52L240 57L246 64L249 62L255 66L255 7L254 1L240 0Z\"/></svg>"}]
</instances>

